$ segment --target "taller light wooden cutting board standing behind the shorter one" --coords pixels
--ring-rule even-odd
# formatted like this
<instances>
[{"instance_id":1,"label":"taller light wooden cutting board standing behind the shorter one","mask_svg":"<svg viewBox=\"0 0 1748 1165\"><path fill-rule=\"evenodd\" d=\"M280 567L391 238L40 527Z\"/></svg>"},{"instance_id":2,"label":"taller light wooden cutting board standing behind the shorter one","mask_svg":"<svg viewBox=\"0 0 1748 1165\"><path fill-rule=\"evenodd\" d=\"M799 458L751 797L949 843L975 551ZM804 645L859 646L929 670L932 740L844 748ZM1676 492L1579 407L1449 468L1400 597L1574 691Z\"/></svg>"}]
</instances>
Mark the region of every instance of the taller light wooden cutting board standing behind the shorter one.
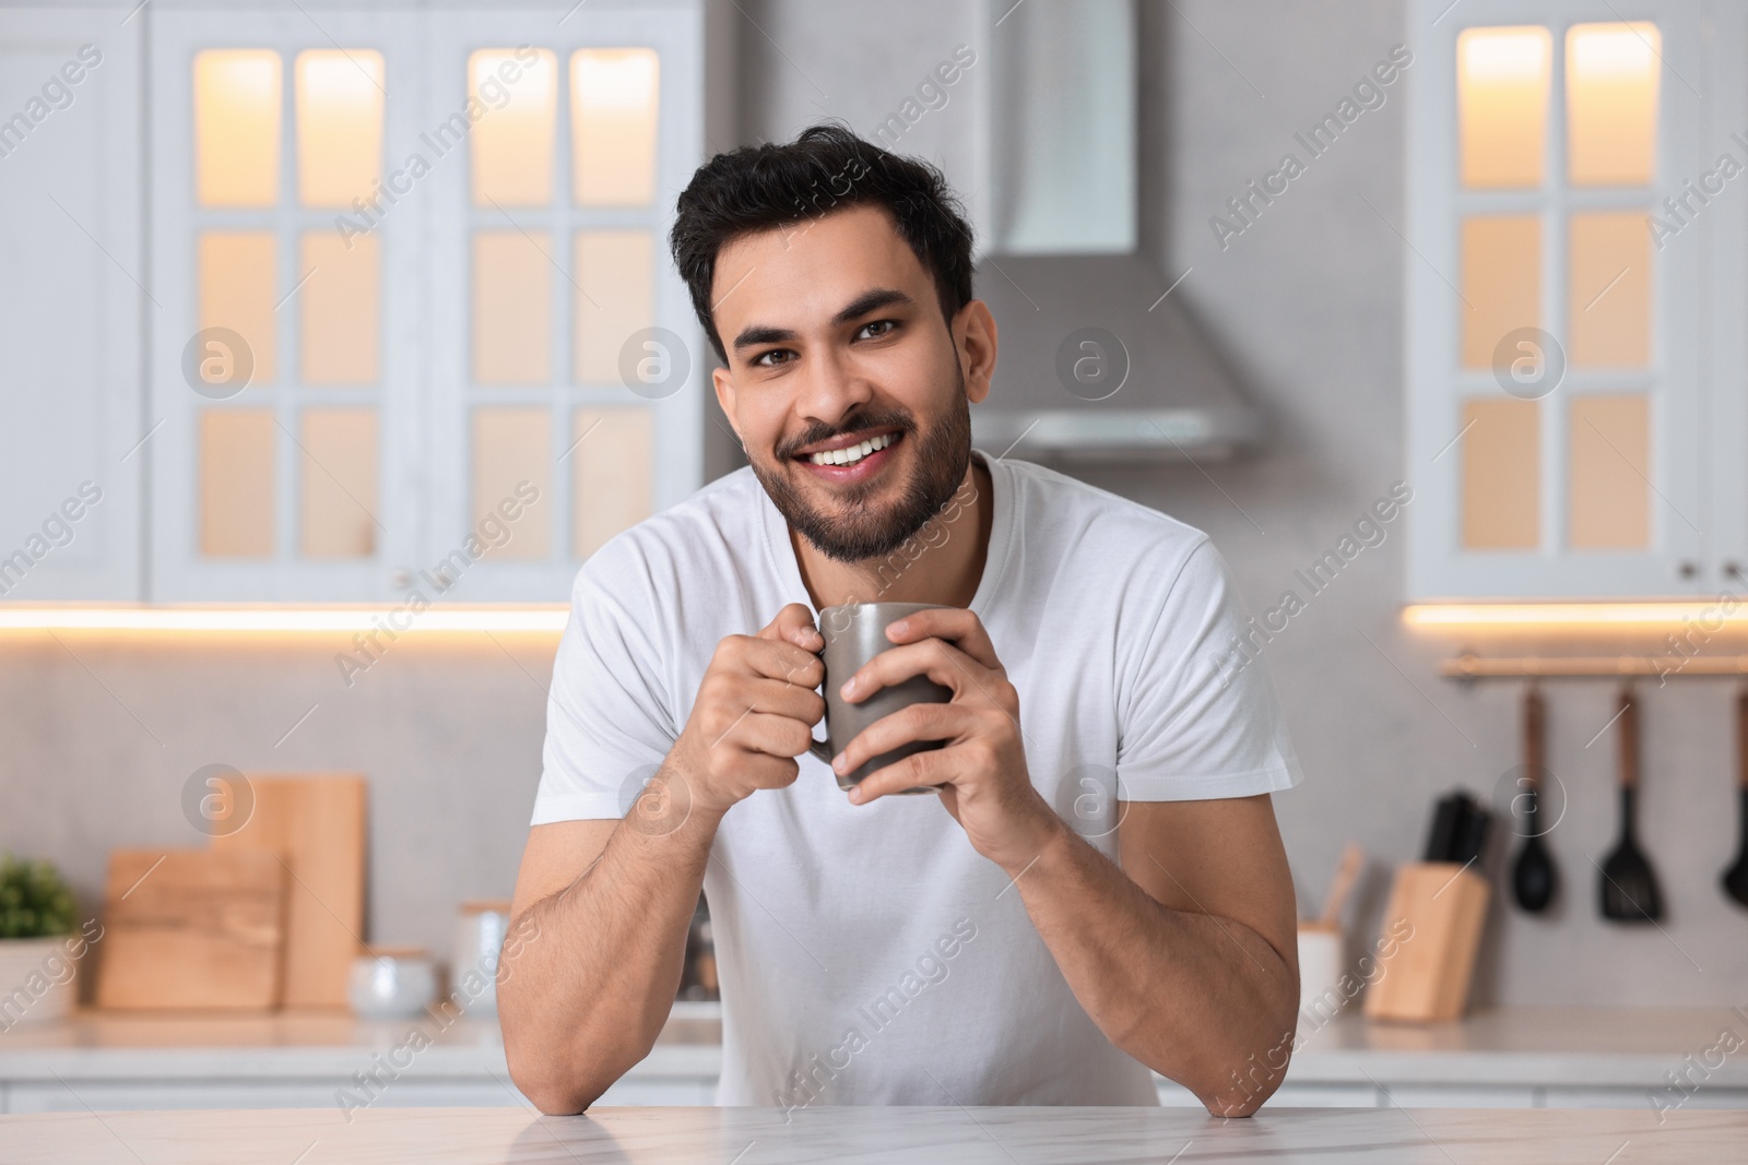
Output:
<instances>
[{"instance_id":1,"label":"taller light wooden cutting board standing behind the shorter one","mask_svg":"<svg viewBox=\"0 0 1748 1165\"><path fill-rule=\"evenodd\" d=\"M255 809L217 852L283 859L287 1008L344 1008L351 961L364 938L364 777L253 776Z\"/></svg>"}]
</instances>

